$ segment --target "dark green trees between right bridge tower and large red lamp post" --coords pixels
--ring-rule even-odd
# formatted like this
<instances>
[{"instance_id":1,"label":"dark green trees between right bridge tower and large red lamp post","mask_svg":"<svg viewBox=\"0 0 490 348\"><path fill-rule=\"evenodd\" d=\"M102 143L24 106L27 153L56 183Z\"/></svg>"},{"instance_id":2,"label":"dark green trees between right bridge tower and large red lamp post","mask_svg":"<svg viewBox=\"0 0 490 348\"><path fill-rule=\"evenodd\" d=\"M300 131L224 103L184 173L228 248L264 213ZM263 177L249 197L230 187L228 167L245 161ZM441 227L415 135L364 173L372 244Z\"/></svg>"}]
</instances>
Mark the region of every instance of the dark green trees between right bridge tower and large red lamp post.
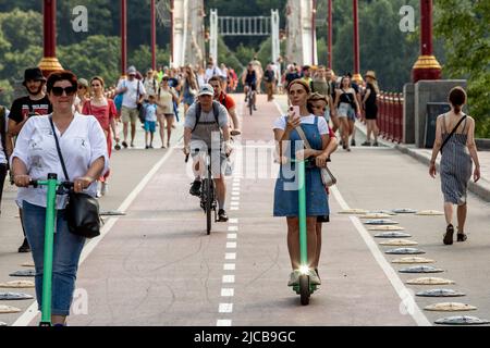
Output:
<instances>
[{"instance_id":1,"label":"dark green trees between right bridge tower and large red lamp post","mask_svg":"<svg viewBox=\"0 0 490 348\"><path fill-rule=\"evenodd\" d=\"M354 24L352 1L334 1L333 9L333 70L338 75L353 72ZM384 90L401 91L411 80L414 63L419 54L418 36L400 29L400 9L412 5L418 25L418 0L359 1L359 55L360 73L377 72ZM327 64L327 27L317 29L318 58Z\"/></svg>"}]
</instances>

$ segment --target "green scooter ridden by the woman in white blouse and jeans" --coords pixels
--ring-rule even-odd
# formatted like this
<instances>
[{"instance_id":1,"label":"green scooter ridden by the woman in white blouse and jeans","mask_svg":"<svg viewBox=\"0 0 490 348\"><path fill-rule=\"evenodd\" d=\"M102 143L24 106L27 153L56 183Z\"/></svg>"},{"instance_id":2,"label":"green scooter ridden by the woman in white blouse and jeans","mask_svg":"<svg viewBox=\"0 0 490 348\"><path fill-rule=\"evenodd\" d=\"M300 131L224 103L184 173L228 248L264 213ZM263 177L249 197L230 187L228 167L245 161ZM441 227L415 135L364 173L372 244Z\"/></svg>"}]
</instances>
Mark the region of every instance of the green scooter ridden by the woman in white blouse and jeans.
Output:
<instances>
[{"instance_id":1,"label":"green scooter ridden by the woman in white blouse and jeans","mask_svg":"<svg viewBox=\"0 0 490 348\"><path fill-rule=\"evenodd\" d=\"M48 174L46 181L30 181L29 186L47 186L46 226L45 226L45 258L42 273L42 304L39 326L51 326L52 297L52 259L57 213L57 195L65 195L73 189L72 182L59 182L57 174Z\"/></svg>"}]
</instances>

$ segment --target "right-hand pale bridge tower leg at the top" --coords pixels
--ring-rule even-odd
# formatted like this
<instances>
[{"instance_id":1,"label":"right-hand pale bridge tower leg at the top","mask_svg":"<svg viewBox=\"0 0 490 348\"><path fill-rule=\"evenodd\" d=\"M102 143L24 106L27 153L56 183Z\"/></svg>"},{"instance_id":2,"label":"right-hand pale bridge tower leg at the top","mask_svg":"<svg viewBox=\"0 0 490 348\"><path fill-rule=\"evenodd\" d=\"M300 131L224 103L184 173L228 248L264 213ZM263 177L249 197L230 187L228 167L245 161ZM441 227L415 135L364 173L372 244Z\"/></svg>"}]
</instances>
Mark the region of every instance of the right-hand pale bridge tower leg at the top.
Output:
<instances>
[{"instance_id":1,"label":"right-hand pale bridge tower leg at the top","mask_svg":"<svg viewBox=\"0 0 490 348\"><path fill-rule=\"evenodd\" d=\"M299 65L317 62L316 30L314 27L313 0L287 0L286 61ZM311 37L314 39L311 40Z\"/></svg>"}]
</instances>

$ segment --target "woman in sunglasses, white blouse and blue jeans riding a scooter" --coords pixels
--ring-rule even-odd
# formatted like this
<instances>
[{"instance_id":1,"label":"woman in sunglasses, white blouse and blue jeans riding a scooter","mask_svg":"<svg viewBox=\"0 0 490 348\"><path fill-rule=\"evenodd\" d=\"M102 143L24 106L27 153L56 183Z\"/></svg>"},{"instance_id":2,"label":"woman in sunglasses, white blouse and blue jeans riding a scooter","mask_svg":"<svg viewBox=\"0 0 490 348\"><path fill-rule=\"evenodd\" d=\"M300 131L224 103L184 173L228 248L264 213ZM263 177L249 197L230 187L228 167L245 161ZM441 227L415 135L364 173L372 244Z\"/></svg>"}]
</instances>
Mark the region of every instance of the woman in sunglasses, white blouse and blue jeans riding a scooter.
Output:
<instances>
[{"instance_id":1,"label":"woman in sunglasses, white blouse and blue jeans riding a scooter","mask_svg":"<svg viewBox=\"0 0 490 348\"><path fill-rule=\"evenodd\" d=\"M47 92L52 104L49 115L30 117L19 134L11 157L12 174L23 203L24 226L36 269L36 297L41 308L42 262L46 221L46 189L29 186L30 179L46 179L49 173L60 181L72 181L75 192L96 195L96 179L108 169L109 158L102 127L94 116L73 111L77 90L76 76L59 71L48 77ZM56 138L66 167L66 177L58 154ZM69 229L64 209L66 196L57 200L52 264L51 322L65 325L75 289L79 256L85 238Z\"/></svg>"}]
</instances>

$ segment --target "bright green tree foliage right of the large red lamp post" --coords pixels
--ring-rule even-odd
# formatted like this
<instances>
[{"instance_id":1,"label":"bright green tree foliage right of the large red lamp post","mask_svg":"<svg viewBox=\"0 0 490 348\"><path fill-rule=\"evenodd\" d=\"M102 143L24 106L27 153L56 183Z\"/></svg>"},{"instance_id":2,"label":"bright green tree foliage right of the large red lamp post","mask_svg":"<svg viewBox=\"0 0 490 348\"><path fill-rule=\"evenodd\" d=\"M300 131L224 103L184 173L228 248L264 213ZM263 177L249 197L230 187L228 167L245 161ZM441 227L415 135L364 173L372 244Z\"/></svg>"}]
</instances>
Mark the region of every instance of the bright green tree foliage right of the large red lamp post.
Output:
<instances>
[{"instance_id":1,"label":"bright green tree foliage right of the large red lamp post","mask_svg":"<svg viewBox=\"0 0 490 348\"><path fill-rule=\"evenodd\" d=\"M468 80L468 105L477 136L490 137L490 1L440 0L436 34L444 40L443 74Z\"/></svg>"}]
</instances>

